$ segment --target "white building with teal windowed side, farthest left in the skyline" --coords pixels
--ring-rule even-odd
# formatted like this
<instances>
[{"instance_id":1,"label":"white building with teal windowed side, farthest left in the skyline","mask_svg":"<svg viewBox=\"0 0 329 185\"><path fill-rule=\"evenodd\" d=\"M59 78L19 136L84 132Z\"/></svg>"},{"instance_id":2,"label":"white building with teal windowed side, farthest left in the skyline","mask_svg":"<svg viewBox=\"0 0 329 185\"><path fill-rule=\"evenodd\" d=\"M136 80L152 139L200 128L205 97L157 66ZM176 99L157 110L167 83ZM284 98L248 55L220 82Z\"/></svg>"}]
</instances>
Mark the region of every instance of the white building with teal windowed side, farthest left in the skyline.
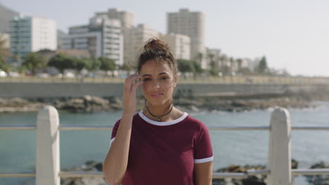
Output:
<instances>
[{"instance_id":1,"label":"white building with teal windowed side, farthest left in the skyline","mask_svg":"<svg viewBox=\"0 0 329 185\"><path fill-rule=\"evenodd\" d=\"M15 16L10 22L11 53L22 60L27 53L57 49L56 22L46 18Z\"/></svg>"}]
</instances>

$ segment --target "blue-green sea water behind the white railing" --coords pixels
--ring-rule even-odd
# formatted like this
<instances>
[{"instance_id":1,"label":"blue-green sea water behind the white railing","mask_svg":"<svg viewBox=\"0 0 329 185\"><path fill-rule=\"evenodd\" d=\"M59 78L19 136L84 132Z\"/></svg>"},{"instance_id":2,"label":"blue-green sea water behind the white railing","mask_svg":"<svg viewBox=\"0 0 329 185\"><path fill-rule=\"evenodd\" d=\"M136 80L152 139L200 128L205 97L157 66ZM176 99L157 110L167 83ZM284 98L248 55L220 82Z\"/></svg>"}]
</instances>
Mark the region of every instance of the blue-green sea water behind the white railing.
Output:
<instances>
[{"instance_id":1,"label":"blue-green sea water behind the white railing","mask_svg":"<svg viewBox=\"0 0 329 185\"><path fill-rule=\"evenodd\" d=\"M288 109L292 126L324 126L329 122L329 102L316 108ZM207 126L268 126L273 109L245 112L207 111L189 113ZM72 114L59 111L62 125L113 125L122 111ZM0 114L0 125L35 125L37 112ZM214 171L228 165L266 165L269 131L210 130ZM87 160L102 162L110 146L111 130L60 131L60 167L65 170ZM292 130L292 158L299 168L321 160L329 162L329 131ZM0 130L0 172L34 172L35 130ZM0 184L34 184L33 178L0 178ZM307 184L297 177L294 184Z\"/></svg>"}]
</instances>

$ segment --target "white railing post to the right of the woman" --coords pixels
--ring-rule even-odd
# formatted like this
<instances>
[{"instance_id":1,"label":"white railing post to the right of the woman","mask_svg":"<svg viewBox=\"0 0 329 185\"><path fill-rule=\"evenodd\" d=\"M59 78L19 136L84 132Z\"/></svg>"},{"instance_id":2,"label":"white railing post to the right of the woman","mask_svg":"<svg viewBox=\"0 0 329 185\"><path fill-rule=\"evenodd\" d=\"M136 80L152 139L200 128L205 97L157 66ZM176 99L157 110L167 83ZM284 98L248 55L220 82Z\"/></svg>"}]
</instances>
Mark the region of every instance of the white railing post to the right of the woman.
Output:
<instances>
[{"instance_id":1,"label":"white railing post to the right of the woman","mask_svg":"<svg viewBox=\"0 0 329 185\"><path fill-rule=\"evenodd\" d=\"M292 184L290 133L288 110L276 108L271 114L268 159L270 174L266 180L268 185Z\"/></svg>"}]
</instances>

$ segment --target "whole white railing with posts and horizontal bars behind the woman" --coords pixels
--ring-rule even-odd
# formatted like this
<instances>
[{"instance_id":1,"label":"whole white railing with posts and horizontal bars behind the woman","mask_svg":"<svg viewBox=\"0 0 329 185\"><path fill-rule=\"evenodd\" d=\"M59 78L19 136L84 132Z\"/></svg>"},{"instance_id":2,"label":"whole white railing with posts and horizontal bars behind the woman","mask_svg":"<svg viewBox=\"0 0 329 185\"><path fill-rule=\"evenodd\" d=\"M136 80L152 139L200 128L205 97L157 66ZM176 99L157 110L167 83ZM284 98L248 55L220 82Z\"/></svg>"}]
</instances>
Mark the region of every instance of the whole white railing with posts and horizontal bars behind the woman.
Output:
<instances>
[{"instance_id":1,"label":"whole white railing with posts and horizontal bars behind the woman","mask_svg":"<svg viewBox=\"0 0 329 185\"><path fill-rule=\"evenodd\" d=\"M51 106L41 109L37 125L0 125L0 130L37 130L36 173L0 173L0 177L35 177L36 184L59 185L60 177L103 177L102 172L61 172L59 158L60 130L111 130L105 125L60 125L58 111ZM269 130L269 158L266 170L245 173L214 172L213 179L245 179L251 175L266 175L266 184L292 184L292 176L329 174L329 169L291 169L291 130L329 130L329 127L291 127L290 114L277 108L271 114L270 126L209 127L209 130Z\"/></svg>"}]
</instances>

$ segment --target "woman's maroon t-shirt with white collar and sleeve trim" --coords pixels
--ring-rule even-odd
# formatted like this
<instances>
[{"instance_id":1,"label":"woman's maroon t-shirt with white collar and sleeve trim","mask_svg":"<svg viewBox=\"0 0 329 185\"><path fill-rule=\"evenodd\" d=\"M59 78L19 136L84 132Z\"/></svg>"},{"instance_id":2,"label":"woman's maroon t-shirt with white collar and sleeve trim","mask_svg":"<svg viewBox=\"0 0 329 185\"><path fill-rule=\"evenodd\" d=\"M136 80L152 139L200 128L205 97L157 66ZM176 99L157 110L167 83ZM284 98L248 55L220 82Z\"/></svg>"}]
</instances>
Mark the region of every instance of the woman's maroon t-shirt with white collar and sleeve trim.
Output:
<instances>
[{"instance_id":1,"label":"woman's maroon t-shirt with white collar and sleeve trim","mask_svg":"<svg viewBox=\"0 0 329 185\"><path fill-rule=\"evenodd\" d=\"M112 130L115 140L120 120ZM187 113L157 122L142 112L134 115L127 171L122 185L192 185L194 163L212 161L207 126Z\"/></svg>"}]
</instances>

